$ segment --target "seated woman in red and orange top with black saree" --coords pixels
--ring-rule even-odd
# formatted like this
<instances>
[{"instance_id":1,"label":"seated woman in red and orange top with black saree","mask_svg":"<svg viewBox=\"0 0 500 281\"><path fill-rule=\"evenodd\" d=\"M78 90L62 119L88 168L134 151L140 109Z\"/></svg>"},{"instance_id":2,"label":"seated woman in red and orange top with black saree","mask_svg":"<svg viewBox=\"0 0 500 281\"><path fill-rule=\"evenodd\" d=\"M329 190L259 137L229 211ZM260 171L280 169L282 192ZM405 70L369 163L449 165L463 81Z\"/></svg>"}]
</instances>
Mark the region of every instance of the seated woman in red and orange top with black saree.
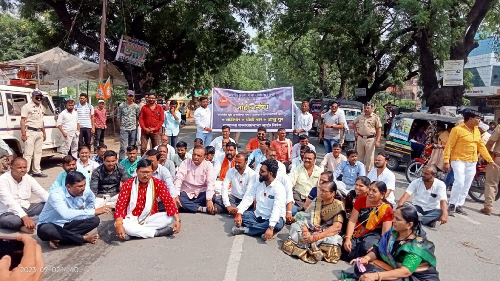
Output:
<instances>
[{"instance_id":1,"label":"seated woman in red and orange top with black saree","mask_svg":"<svg viewBox=\"0 0 500 281\"><path fill-rule=\"evenodd\" d=\"M351 259L366 254L378 243L380 236L392 225L392 207L384 202L387 186L380 180L370 183L368 195L360 196L354 203L347 222L342 259Z\"/></svg>"}]
</instances>

